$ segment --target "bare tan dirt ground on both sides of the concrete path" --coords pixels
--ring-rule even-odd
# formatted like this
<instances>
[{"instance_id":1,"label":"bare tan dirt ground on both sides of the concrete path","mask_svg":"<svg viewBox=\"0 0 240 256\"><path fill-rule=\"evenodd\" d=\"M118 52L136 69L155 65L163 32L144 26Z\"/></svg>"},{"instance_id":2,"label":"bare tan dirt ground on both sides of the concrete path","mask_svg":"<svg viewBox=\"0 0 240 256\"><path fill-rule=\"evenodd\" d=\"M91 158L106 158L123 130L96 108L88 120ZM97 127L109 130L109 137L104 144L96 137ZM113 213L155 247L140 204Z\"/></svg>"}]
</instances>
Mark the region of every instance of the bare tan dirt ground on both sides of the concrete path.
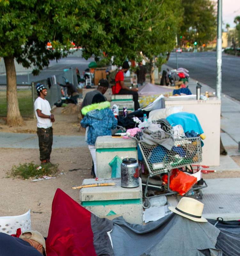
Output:
<instances>
[{"instance_id":1,"label":"bare tan dirt ground on both sides of the concrete path","mask_svg":"<svg viewBox=\"0 0 240 256\"><path fill-rule=\"evenodd\" d=\"M84 135L80 127L78 113L64 115L63 108L55 108L52 113L56 122L53 124L54 135ZM0 121L0 132L35 133L36 120L26 120L22 127L14 128L4 125ZM232 157L240 163L239 156ZM84 178L91 178L92 160L87 147L53 149L51 161L59 164L57 178L31 182L6 178L6 173L13 165L34 161L39 163L38 149L0 148L0 216L20 215L31 209L32 229L38 230L47 236L51 216L51 203L57 188L61 188L74 200L79 202L79 190L71 188L81 185ZM69 169L78 169L69 171ZM240 177L240 171L222 171L203 174L204 179L209 178L235 178Z\"/></svg>"}]
</instances>

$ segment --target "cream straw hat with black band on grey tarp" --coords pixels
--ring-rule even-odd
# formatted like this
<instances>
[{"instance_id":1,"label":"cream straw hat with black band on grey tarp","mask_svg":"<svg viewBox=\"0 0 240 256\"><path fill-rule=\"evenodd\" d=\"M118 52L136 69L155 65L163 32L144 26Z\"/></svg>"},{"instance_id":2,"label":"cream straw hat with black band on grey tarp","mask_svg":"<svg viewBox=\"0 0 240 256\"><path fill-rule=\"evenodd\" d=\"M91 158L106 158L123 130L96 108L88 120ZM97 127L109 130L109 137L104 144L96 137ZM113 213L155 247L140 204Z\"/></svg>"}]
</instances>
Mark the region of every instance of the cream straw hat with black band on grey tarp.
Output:
<instances>
[{"instance_id":1,"label":"cream straw hat with black band on grey tarp","mask_svg":"<svg viewBox=\"0 0 240 256\"><path fill-rule=\"evenodd\" d=\"M182 197L176 207L169 206L168 209L178 215L197 222L207 222L202 217L204 204L190 197Z\"/></svg>"}]
</instances>

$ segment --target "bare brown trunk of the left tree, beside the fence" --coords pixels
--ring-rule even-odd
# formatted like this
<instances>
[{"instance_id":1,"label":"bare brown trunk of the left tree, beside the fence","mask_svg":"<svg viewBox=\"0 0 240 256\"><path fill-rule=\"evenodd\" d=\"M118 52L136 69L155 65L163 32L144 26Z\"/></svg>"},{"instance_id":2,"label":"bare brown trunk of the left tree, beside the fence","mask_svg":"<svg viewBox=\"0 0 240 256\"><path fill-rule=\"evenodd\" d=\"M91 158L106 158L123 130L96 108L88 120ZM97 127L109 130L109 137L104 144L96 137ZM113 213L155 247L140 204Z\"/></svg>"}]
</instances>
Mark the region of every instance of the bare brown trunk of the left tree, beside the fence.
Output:
<instances>
[{"instance_id":1,"label":"bare brown trunk of the left tree, beside the fence","mask_svg":"<svg viewBox=\"0 0 240 256\"><path fill-rule=\"evenodd\" d=\"M7 120L9 126L22 126L24 121L19 111L17 79L13 56L4 57L7 75Z\"/></svg>"}]
</instances>

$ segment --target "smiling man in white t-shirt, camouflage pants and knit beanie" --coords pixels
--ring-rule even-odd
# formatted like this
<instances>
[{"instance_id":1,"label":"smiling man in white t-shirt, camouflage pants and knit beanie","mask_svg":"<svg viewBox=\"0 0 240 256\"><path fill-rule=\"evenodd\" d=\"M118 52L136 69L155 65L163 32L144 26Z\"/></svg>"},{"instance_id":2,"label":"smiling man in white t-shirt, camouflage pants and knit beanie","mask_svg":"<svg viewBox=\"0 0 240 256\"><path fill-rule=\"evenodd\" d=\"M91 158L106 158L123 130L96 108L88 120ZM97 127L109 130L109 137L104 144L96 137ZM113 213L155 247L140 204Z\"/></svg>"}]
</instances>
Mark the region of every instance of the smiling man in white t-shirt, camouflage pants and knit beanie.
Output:
<instances>
[{"instance_id":1,"label":"smiling man in white t-shirt, camouflage pants and knit beanie","mask_svg":"<svg viewBox=\"0 0 240 256\"><path fill-rule=\"evenodd\" d=\"M34 102L35 115L37 118L37 136L40 151L41 164L50 162L52 151L52 123L55 121L54 115L51 114L49 102L45 99L47 88L45 85L38 83L36 85L38 97Z\"/></svg>"}]
</instances>

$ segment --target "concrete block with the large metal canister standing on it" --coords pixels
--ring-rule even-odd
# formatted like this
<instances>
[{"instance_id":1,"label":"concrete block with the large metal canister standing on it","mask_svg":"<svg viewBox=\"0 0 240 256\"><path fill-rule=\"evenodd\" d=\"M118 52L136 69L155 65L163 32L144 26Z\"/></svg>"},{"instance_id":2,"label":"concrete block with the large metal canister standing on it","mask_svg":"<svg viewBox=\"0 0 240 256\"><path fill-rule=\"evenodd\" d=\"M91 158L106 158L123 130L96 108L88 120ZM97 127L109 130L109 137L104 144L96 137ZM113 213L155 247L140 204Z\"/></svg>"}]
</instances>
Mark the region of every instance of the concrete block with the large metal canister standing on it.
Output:
<instances>
[{"instance_id":1,"label":"concrete block with the large metal canister standing on it","mask_svg":"<svg viewBox=\"0 0 240 256\"><path fill-rule=\"evenodd\" d=\"M81 205L98 217L116 213L129 223L143 224L142 182L136 188L121 187L121 179L84 179L83 185L116 183L114 186L89 187L80 190Z\"/></svg>"}]
</instances>

